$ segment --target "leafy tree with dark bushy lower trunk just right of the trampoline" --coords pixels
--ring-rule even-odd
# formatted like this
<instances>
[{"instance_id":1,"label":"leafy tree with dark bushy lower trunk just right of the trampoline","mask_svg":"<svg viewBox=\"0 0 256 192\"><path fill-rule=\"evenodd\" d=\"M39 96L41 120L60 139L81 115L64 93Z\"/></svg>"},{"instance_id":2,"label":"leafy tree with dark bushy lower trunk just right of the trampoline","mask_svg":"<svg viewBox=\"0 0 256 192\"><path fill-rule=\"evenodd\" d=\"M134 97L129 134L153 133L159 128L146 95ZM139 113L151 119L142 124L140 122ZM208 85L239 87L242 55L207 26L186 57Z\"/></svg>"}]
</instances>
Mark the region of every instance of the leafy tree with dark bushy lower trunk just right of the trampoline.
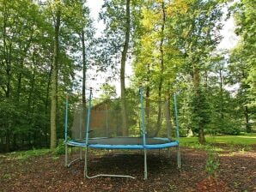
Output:
<instances>
[{"instance_id":1,"label":"leafy tree with dark bushy lower trunk just right of the trampoline","mask_svg":"<svg viewBox=\"0 0 256 192\"><path fill-rule=\"evenodd\" d=\"M186 57L186 73L192 77L192 122L200 143L205 142L204 128L209 123L209 105L202 87L201 73L205 61L220 40L221 4L216 1L191 1L188 9L176 18L177 42ZM207 115L208 114L208 115Z\"/></svg>"}]
</instances>

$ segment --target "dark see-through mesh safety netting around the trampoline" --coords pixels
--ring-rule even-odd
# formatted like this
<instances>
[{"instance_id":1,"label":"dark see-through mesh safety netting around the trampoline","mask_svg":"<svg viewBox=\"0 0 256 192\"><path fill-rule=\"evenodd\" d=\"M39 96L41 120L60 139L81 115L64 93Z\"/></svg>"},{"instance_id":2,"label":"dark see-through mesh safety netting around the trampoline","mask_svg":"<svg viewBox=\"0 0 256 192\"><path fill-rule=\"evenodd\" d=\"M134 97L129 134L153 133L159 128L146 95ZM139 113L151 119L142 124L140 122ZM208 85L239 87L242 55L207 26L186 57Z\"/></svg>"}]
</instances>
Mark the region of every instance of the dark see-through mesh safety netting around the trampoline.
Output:
<instances>
[{"instance_id":1,"label":"dark see-through mesh safety netting around the trampoline","mask_svg":"<svg viewBox=\"0 0 256 192\"><path fill-rule=\"evenodd\" d=\"M125 107L124 107L125 106ZM169 138L169 109L166 101L143 101L146 136ZM71 128L72 139L86 136L88 107L76 106ZM90 111L89 138L143 137L140 99L93 100Z\"/></svg>"}]
</instances>

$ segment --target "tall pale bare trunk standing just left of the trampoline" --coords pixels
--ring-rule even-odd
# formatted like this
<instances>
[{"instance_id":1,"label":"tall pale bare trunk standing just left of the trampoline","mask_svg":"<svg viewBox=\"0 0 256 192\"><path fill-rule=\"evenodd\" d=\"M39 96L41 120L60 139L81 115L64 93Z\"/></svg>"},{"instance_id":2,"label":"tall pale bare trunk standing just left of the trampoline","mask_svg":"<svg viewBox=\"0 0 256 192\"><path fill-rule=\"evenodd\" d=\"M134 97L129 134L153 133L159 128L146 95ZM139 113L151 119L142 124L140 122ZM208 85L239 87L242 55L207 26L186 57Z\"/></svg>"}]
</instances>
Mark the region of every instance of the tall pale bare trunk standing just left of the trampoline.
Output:
<instances>
[{"instance_id":1,"label":"tall pale bare trunk standing just left of the trampoline","mask_svg":"<svg viewBox=\"0 0 256 192\"><path fill-rule=\"evenodd\" d=\"M57 95L58 95L58 57L59 57L59 28L60 28L60 9L56 13L55 33L54 33L54 52L52 63L52 91L51 91L51 148L56 147L56 117L57 117Z\"/></svg>"}]
</instances>

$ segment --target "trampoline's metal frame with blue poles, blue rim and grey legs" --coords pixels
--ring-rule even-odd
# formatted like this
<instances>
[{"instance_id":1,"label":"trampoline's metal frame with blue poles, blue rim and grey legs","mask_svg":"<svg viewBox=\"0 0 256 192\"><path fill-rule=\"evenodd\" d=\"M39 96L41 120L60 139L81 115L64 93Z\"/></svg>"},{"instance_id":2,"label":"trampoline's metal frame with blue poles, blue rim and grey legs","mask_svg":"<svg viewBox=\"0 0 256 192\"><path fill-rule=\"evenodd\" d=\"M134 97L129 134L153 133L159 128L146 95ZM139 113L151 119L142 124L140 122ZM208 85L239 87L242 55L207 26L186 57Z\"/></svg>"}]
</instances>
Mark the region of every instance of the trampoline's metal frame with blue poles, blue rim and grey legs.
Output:
<instances>
[{"instance_id":1,"label":"trampoline's metal frame with blue poles, blue rim and grey legs","mask_svg":"<svg viewBox=\"0 0 256 192\"><path fill-rule=\"evenodd\" d=\"M143 150L143 156L144 156L144 179L148 178L148 165L147 165L147 150L149 149L161 149L161 148L168 148L168 156L169 156L169 147L176 147L177 149L177 165L178 168L180 168L180 145L179 145L179 121L178 121L178 109L177 109L177 101L176 101L176 94L174 93L174 110L175 110L175 122L176 122L176 131L177 131L177 140L176 141L170 141L168 138L150 138L153 140L161 140L166 141L160 144L147 144L147 138L146 138L146 129L145 129L145 122L144 122L144 108L143 108L143 88L140 87L139 89L140 93L140 100L141 100L141 111L142 111L142 132L143 132L143 143L141 145L120 145L120 144L95 144L90 143L90 140L97 140L102 139L100 138L90 138L89 139L89 124L90 124L90 110L91 110L91 100L92 100L92 88L90 88L89 92L89 100L88 100L88 116L87 116L87 125L86 125L86 138L85 140L68 140L68 134L67 134L67 124L68 124L68 97L66 98L66 106L65 106L65 160L64 165L66 167L70 167L72 163L74 163L76 160L82 159L82 147L85 147L85 153L84 153L84 170L83 174L84 177L87 178L94 178L94 177L129 177L129 178L135 178L129 175L114 175L114 174L98 174L94 176L88 176L88 147L90 148L101 148L101 149L139 149ZM106 138L107 139L107 138ZM68 147L81 147L80 148L80 155L79 158L72 160L70 163L68 163Z\"/></svg>"}]
</instances>

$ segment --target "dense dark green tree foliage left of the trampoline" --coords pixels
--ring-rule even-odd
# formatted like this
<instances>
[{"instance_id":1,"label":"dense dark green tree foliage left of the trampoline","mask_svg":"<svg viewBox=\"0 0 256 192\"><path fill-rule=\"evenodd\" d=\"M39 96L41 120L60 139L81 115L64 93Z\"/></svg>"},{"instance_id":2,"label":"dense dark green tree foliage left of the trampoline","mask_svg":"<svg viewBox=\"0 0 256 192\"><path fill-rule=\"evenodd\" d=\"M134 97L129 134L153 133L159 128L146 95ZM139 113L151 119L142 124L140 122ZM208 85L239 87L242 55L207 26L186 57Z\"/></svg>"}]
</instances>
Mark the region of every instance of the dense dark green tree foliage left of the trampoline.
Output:
<instances>
[{"instance_id":1,"label":"dense dark green tree foliage left of the trampoline","mask_svg":"<svg viewBox=\"0 0 256 192\"><path fill-rule=\"evenodd\" d=\"M90 23L82 1L65 3L48 1L40 6L31 0L0 1L1 152L49 145L53 15L57 6L64 13L59 36L57 133L58 137L64 135L65 94L78 87L75 71L80 69L77 55L82 50L77 33ZM92 30L85 30L86 37ZM77 97L70 97L70 105Z\"/></svg>"}]
</instances>

